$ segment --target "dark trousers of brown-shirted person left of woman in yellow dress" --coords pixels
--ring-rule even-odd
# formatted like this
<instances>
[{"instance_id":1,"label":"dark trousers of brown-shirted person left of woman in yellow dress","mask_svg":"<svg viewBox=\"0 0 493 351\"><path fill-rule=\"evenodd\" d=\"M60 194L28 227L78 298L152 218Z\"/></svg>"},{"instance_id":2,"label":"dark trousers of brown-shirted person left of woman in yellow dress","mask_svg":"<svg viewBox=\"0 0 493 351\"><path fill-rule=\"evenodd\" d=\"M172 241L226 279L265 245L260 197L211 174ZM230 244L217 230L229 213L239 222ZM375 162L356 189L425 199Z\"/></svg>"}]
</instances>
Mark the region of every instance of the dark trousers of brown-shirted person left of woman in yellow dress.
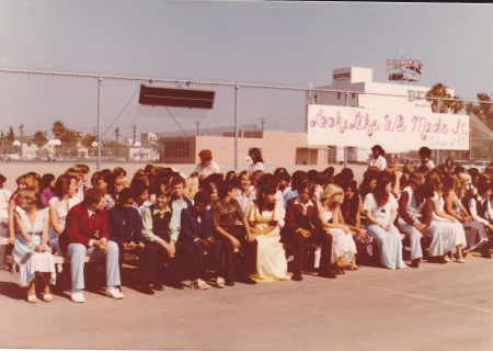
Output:
<instances>
[{"instance_id":1,"label":"dark trousers of brown-shirted person left of woman in yellow dress","mask_svg":"<svg viewBox=\"0 0 493 351\"><path fill-rule=\"evenodd\" d=\"M256 240L249 242L245 238L245 229L240 226L225 228L225 230L237 238L241 244L240 272L238 272L240 276L254 274L256 272ZM232 279L234 276L234 246L230 239L220 234L217 234L216 238L222 244L225 278Z\"/></svg>"}]
</instances>

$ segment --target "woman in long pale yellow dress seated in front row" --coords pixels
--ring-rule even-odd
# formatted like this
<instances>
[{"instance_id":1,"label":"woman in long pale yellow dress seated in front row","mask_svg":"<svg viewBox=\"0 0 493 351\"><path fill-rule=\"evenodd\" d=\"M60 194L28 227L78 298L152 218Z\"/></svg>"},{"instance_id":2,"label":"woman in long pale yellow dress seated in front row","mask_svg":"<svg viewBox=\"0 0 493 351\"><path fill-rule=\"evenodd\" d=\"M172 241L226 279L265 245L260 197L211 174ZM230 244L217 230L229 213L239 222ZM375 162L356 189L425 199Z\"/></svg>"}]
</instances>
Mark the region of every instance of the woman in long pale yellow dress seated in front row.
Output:
<instances>
[{"instance_id":1,"label":"woman in long pale yellow dress seated in front row","mask_svg":"<svg viewBox=\"0 0 493 351\"><path fill-rule=\"evenodd\" d=\"M272 282L287 280L287 261L280 230L277 223L284 218L284 206L276 202L277 188L271 182L261 184L259 199L252 201L245 217L257 241L256 273L250 278L255 281Z\"/></svg>"}]
</instances>

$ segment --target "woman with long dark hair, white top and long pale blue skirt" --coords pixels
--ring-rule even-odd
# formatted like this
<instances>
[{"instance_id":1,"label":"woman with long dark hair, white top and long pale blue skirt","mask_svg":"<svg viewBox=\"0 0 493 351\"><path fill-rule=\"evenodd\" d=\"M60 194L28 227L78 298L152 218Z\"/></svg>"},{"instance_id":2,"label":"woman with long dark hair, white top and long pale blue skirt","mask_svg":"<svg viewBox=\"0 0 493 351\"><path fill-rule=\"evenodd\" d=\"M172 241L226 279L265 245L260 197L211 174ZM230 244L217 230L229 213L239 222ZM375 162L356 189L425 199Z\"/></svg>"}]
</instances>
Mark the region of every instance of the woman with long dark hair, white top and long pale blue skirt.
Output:
<instances>
[{"instance_id":1,"label":"woman with long dark hair, white top and long pale blue skirt","mask_svg":"<svg viewBox=\"0 0 493 351\"><path fill-rule=\"evenodd\" d=\"M390 179L379 177L374 192L365 196L363 208L368 218L366 230L377 240L381 264L394 270L406 265L402 260L401 234L393 225L398 214L398 203L391 191Z\"/></svg>"}]
</instances>

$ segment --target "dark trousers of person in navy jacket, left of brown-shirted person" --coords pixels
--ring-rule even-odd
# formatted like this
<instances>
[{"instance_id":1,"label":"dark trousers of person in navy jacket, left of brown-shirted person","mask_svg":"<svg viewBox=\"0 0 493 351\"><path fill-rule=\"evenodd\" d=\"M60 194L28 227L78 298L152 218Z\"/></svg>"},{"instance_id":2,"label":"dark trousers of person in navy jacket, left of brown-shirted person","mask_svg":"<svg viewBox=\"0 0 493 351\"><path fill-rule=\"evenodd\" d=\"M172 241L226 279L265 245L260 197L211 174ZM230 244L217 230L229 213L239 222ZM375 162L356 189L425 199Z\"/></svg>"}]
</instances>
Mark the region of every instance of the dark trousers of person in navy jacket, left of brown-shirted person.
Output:
<instances>
[{"instance_id":1,"label":"dark trousers of person in navy jacket, left of brown-shirted person","mask_svg":"<svg viewBox=\"0 0 493 351\"><path fill-rule=\"evenodd\" d=\"M182 254L180 260L186 268L190 279L195 281L198 278L204 278L205 265L204 265L204 246L198 241L180 241L179 242L186 247L186 250L181 250ZM207 254L211 256L214 262L214 269L221 275L222 270L222 244L219 240L214 241L214 244L207 249Z\"/></svg>"}]
</instances>

